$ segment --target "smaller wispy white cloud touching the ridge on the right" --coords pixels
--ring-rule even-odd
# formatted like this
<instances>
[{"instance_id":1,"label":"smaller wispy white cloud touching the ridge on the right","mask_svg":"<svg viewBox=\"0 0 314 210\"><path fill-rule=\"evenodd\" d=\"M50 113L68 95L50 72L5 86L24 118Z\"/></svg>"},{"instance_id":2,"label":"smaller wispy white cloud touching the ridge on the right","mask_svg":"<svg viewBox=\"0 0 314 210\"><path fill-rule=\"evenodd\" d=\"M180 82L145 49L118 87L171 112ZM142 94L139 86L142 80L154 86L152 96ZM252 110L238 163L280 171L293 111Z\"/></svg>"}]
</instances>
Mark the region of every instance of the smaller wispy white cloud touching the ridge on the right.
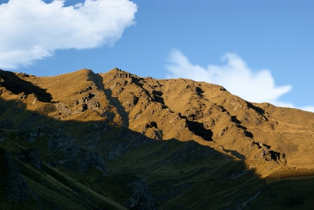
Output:
<instances>
[{"instance_id":1,"label":"smaller wispy white cloud touching the ridge on the right","mask_svg":"<svg viewBox=\"0 0 314 210\"><path fill-rule=\"evenodd\" d=\"M219 84L232 94L251 102L268 102L282 107L294 107L292 103L284 103L278 99L289 92L292 86L275 86L269 70L252 71L244 60L233 53L226 53L222 60L226 61L225 65L208 65L205 68L191 64L185 55L174 50L170 52L169 63L165 66L170 72L166 77L182 77ZM314 112L314 107L301 109Z\"/></svg>"}]
</instances>

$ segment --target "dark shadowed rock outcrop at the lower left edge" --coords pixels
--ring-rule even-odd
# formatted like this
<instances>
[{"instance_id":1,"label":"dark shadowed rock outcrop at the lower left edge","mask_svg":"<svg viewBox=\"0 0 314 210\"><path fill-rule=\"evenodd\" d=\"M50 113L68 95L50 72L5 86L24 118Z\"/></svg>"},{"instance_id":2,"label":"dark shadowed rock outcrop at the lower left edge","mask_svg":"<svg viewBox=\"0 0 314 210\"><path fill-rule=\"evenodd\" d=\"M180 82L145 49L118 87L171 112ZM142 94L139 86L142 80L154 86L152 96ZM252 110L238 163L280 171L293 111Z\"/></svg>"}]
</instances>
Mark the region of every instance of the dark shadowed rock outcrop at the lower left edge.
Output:
<instances>
[{"instance_id":1,"label":"dark shadowed rock outcrop at the lower left edge","mask_svg":"<svg viewBox=\"0 0 314 210\"><path fill-rule=\"evenodd\" d=\"M4 182L6 196L14 202L36 197L35 192L24 181L11 155L0 148L1 182Z\"/></svg>"}]
</instances>

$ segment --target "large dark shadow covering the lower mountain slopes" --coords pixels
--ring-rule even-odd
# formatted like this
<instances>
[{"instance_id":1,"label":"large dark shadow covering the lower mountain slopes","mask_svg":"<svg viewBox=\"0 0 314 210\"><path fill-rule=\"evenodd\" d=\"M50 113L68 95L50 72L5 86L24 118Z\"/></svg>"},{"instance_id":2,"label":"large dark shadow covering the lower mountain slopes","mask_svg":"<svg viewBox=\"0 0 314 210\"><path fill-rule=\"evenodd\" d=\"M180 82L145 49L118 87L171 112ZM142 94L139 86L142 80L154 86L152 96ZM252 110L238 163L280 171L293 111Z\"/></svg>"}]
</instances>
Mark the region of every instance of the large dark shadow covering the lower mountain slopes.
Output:
<instances>
[{"instance_id":1,"label":"large dark shadow covering the lower mountain slopes","mask_svg":"<svg viewBox=\"0 0 314 210\"><path fill-rule=\"evenodd\" d=\"M82 209L114 209L114 207L99 199L100 197L95 196L97 194L92 190L114 201L117 198L132 199L136 196L133 192L150 189L143 191L141 196L144 195L144 197L140 197L141 201L145 202L153 197L156 203L160 205L159 209L175 209L172 207L182 204L176 199L189 199L192 192L195 197L198 196L199 198L189 200L191 205L195 206L193 209L207 208L213 202L222 204L225 200L229 202L225 206L219 206L219 209L237 209L238 204L247 202L257 192L262 193L252 199L249 204L264 204L267 199L271 199L273 204L277 201L283 201L283 204L285 204L287 199L283 196L287 192L282 190L285 187L289 190L296 190L294 197L298 199L298 196L300 196L304 203L312 199L312 197L303 199L303 196L311 192L312 189L304 188L308 185L309 179L303 181L305 184L300 187L302 180L296 184L292 181L268 184L265 180L255 176L253 171L241 172L239 173L241 176L229 178L225 176L226 171L230 171L231 174L236 171L244 171L243 162L233 161L233 157L217 152L212 147L200 145L193 140L186 142L175 138L171 140L154 140L142 133L125 127L113 126L102 121L61 121L25 109L15 113L15 107L12 109L12 106L16 106L18 109L18 103L22 102L18 100L6 101L0 98L1 112L13 112L12 120L13 118L20 120L15 120L16 126L13 127L15 130L0 129L0 147L4 147L6 150L8 147L8 153L12 157L14 155L13 161L17 163L18 168L15 173L22 174L21 177L25 178L27 183L31 181L32 185L29 188L34 188L34 192L38 194L43 191L49 192L47 197L43 197L43 194L41 194L39 199L32 200L32 205L35 206L34 209L36 209L36 206L41 205L43 206L37 209L49 209L45 208L45 202L50 206L58 203L57 198L51 195L62 195L60 196L62 200L65 199L70 204L78 204L82 206ZM25 119L22 119L22 117L19 119L18 114L22 114ZM8 116L8 113L6 116ZM33 118L32 124L25 126L25 124L28 124L25 121L26 118L30 117ZM0 121L4 120L5 117L0 116ZM199 135L210 136L206 133L210 130L202 129L203 124L189 121L187 123ZM21 124L22 126L20 126ZM150 126L155 127L157 125L152 123ZM76 134L78 131L71 132L71 134L66 132L73 128L82 129L86 133L84 136L78 136ZM3 138L7 133L11 133L11 136ZM97 136L97 133L100 133L100 137ZM13 146L8 145L9 140L13 142ZM18 154L19 147L23 148L20 154ZM39 147L39 150L28 150L27 147ZM265 147L270 148L268 145L265 145ZM27 154L23 153L24 148ZM36 151L39 151L39 153ZM235 157L243 159L243 155L238 154L237 151L224 151L231 152ZM72 155L72 153L76 154ZM21 160L15 158L15 156ZM276 157L278 157L278 154ZM103 163L109 172L109 176L102 176L99 173L100 169L97 169L97 167L102 167L100 159L104 159ZM75 164L71 164L71 161ZM31 162L31 164L33 162L35 165L41 163L43 166L42 171L36 171L28 162ZM0 166L4 164L6 162L0 159ZM97 167L94 167L93 164ZM75 168L76 165L78 168ZM72 173L67 167L71 167L72 171L78 170L77 173L80 176L75 176L77 173ZM295 171L295 173L300 174L299 171ZM46 179L41 174L52 178ZM95 174L98 175L95 176ZM308 172L307 176L313 176L313 174L313 171ZM141 181L138 181L139 179ZM310 181L311 185L313 183L314 180ZM132 185L136 186L132 187ZM40 186L40 188L36 188L36 186ZM60 186L66 186L67 189L71 190L60 190ZM300 188L302 192L297 191ZM219 196L217 196L217 193L219 193ZM274 196L272 197L274 194L280 197L275 199ZM145 197L145 195L148 195L148 197ZM1 199L5 200L6 198L2 197ZM123 199L121 199L120 204L123 203ZM20 200L20 202L25 201ZM302 206L302 202L289 199L287 206L299 205L306 209L305 206ZM59 205L60 209L66 209L64 203L60 202ZM6 209L13 209L14 206L14 202L8 202ZM27 206L28 209L32 209L32 207ZM250 206L248 207L250 208ZM301 207L300 209L302 209ZM133 209L144 208L134 206ZM146 209L149 209L149 206L146 206ZM183 206L181 209L191 208Z\"/></svg>"}]
</instances>

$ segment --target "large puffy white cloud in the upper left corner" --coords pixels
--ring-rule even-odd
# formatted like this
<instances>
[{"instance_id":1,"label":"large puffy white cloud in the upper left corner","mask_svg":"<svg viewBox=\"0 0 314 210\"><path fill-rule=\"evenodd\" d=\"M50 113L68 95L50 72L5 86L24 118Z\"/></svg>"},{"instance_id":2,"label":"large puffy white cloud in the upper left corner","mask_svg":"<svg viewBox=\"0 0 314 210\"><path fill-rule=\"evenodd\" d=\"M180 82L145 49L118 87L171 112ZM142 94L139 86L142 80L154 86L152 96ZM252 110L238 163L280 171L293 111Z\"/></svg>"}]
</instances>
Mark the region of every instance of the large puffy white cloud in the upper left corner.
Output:
<instances>
[{"instance_id":1,"label":"large puffy white cloud in the upper left corner","mask_svg":"<svg viewBox=\"0 0 314 210\"><path fill-rule=\"evenodd\" d=\"M113 46L134 25L137 6L128 0L9 0L0 5L0 68L30 65L58 49Z\"/></svg>"}]
</instances>

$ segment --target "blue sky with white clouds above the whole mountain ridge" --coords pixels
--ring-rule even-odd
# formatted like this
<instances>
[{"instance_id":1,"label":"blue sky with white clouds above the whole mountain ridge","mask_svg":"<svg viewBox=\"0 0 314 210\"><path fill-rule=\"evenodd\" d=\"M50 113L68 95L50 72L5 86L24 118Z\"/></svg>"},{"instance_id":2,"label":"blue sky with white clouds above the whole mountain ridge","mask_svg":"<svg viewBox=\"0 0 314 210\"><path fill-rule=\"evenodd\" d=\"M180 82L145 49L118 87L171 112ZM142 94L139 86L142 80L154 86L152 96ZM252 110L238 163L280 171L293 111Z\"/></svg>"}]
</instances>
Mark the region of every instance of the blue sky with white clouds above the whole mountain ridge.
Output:
<instances>
[{"instance_id":1,"label":"blue sky with white clouds above the whole mountain ridge","mask_svg":"<svg viewBox=\"0 0 314 210\"><path fill-rule=\"evenodd\" d=\"M52 76L118 67L314 112L312 0L51 2L0 0L1 31L9 28L0 34L2 70Z\"/></svg>"}]
</instances>

